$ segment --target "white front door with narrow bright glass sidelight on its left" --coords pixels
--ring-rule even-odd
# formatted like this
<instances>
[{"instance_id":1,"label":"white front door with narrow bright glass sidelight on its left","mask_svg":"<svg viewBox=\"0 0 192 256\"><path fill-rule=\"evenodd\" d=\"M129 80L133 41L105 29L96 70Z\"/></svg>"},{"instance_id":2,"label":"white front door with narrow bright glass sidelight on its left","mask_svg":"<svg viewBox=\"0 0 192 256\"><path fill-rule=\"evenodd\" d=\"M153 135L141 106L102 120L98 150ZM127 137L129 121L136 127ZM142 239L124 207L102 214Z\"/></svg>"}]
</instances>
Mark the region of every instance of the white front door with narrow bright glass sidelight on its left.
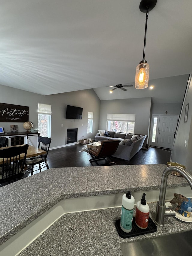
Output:
<instances>
[{"instance_id":1,"label":"white front door with narrow bright glass sidelight on its left","mask_svg":"<svg viewBox=\"0 0 192 256\"><path fill-rule=\"evenodd\" d=\"M153 115L151 146L172 149L178 115Z\"/></svg>"}]
</instances>

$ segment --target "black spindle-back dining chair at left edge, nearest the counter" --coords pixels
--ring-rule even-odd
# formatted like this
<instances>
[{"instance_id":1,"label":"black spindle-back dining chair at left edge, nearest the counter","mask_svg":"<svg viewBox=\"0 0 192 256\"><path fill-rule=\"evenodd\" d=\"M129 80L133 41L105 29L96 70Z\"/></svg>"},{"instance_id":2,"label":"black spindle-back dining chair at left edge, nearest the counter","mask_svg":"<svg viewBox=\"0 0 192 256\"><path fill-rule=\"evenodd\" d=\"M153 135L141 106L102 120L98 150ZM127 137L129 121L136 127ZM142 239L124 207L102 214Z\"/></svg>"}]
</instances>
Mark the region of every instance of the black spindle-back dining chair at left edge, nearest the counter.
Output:
<instances>
[{"instance_id":1,"label":"black spindle-back dining chair at left edge, nearest the counter","mask_svg":"<svg viewBox=\"0 0 192 256\"><path fill-rule=\"evenodd\" d=\"M25 160L29 145L12 146L4 149L0 148L0 184L11 181L16 181L23 177L25 171Z\"/></svg>"}]
</instances>

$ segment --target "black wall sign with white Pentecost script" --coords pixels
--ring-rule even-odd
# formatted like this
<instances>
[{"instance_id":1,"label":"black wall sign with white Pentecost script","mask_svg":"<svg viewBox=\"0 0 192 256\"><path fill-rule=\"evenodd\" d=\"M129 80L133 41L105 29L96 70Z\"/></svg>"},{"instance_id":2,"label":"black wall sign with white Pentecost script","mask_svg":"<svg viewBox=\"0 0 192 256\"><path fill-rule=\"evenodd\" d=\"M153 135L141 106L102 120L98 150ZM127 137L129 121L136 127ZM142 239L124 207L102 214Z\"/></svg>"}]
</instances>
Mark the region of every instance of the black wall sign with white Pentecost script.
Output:
<instances>
[{"instance_id":1,"label":"black wall sign with white Pentecost script","mask_svg":"<svg viewBox=\"0 0 192 256\"><path fill-rule=\"evenodd\" d=\"M0 103L0 122L29 121L29 107Z\"/></svg>"}]
</instances>

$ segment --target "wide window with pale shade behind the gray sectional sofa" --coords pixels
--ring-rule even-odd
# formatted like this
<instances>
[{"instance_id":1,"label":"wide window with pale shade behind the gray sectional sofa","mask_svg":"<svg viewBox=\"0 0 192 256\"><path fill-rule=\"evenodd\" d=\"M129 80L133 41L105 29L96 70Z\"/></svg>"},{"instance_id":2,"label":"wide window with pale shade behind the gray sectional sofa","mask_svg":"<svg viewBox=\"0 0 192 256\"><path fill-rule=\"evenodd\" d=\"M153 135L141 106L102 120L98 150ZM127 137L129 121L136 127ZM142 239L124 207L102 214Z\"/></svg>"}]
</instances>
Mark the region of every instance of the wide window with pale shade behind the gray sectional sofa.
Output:
<instances>
[{"instance_id":1,"label":"wide window with pale shade behind the gray sectional sofa","mask_svg":"<svg viewBox=\"0 0 192 256\"><path fill-rule=\"evenodd\" d=\"M134 133L135 114L107 114L107 131Z\"/></svg>"}]
</instances>

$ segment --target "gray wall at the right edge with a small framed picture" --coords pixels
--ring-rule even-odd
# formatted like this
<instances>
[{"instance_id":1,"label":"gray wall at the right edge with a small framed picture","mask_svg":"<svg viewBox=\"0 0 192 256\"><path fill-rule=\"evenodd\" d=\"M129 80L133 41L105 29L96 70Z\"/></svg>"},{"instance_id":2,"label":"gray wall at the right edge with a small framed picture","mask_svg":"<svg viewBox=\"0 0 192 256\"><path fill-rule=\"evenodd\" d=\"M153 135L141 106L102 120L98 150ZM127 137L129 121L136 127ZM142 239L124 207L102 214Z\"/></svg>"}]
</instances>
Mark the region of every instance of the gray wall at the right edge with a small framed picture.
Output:
<instances>
[{"instance_id":1,"label":"gray wall at the right edge with a small framed picture","mask_svg":"<svg viewBox=\"0 0 192 256\"><path fill-rule=\"evenodd\" d=\"M189 112L187 122L184 123L185 106L189 102ZM187 145L185 147L185 140ZM183 164L187 169L192 170L192 79L187 85L187 92L182 106L181 116L179 118L178 128L171 152L171 161Z\"/></svg>"}]
</instances>

